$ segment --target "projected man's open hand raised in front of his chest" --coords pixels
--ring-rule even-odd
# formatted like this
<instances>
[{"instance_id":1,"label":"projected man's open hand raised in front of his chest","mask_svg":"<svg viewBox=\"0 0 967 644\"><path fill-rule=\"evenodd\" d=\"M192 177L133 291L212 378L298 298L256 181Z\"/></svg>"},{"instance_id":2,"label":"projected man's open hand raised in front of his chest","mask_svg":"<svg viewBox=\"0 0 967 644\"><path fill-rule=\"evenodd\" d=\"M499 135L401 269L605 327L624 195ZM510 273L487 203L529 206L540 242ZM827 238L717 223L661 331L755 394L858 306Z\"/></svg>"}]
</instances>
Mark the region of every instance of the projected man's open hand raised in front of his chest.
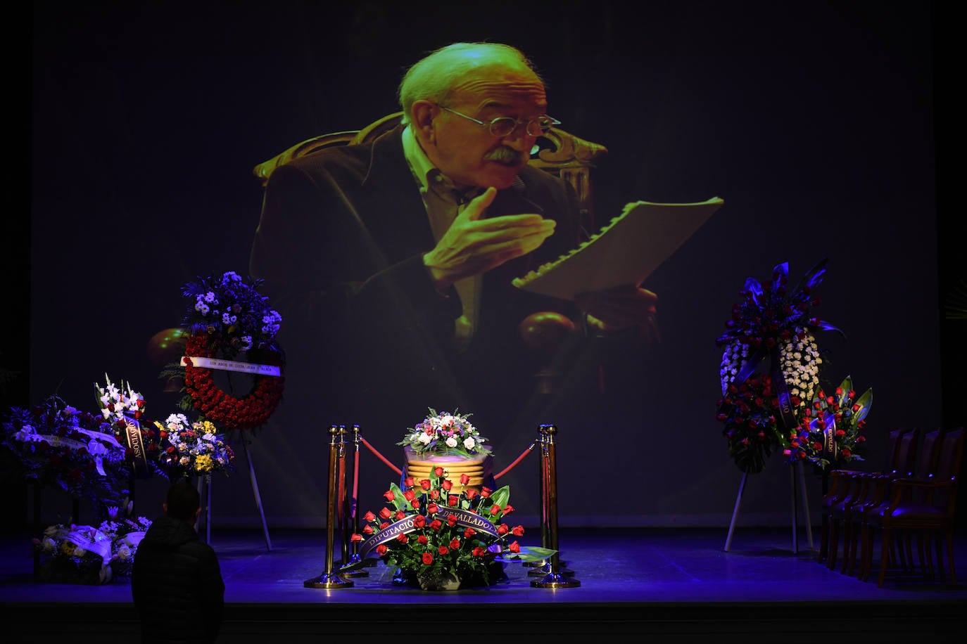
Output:
<instances>
[{"instance_id":1,"label":"projected man's open hand raised in front of his chest","mask_svg":"<svg viewBox=\"0 0 967 644\"><path fill-rule=\"evenodd\" d=\"M467 204L436 247L425 254L424 264L438 291L526 255L553 234L556 222L540 214L481 219L496 195L497 190L490 187Z\"/></svg>"}]
</instances>

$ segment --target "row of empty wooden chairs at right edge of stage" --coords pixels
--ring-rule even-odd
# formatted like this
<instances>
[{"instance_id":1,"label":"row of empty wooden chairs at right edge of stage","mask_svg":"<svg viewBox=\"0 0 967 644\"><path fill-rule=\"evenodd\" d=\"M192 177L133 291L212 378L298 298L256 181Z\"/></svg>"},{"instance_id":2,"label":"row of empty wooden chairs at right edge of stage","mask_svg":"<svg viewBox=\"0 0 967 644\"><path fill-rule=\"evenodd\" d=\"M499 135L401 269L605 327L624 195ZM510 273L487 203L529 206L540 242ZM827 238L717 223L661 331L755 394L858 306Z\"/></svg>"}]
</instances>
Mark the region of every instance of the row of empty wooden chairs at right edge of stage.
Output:
<instances>
[{"instance_id":1,"label":"row of empty wooden chairs at right edge of stage","mask_svg":"<svg viewBox=\"0 0 967 644\"><path fill-rule=\"evenodd\" d=\"M955 584L954 515L963 444L963 428L927 433L897 428L888 434L881 470L831 471L822 499L820 562L835 570L841 537L840 573L868 580L879 538L878 586L888 571L915 570L914 545L929 577L944 574L946 550Z\"/></svg>"}]
</instances>

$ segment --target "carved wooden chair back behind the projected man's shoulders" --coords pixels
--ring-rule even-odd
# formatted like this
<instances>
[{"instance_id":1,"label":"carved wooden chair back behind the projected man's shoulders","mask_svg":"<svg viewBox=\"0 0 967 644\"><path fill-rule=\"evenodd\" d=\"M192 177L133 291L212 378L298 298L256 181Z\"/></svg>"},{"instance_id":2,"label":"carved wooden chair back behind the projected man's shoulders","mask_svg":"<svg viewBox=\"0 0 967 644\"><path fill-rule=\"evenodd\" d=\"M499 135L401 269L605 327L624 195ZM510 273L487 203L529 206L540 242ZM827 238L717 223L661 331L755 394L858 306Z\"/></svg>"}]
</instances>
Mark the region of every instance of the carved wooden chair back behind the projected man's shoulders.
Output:
<instances>
[{"instance_id":1,"label":"carved wooden chair back behind the projected man's shoulders","mask_svg":"<svg viewBox=\"0 0 967 644\"><path fill-rule=\"evenodd\" d=\"M390 114L358 130L313 136L259 163L252 169L252 173L264 186L278 166L325 148L374 141L398 126L402 115L402 112ZM585 141L557 127L551 127L540 137L538 145L540 150L532 155L530 164L571 183L580 203L581 225L589 234L593 233L595 208L591 170L597 167L601 159L607 155L607 148L598 143Z\"/></svg>"}]
</instances>

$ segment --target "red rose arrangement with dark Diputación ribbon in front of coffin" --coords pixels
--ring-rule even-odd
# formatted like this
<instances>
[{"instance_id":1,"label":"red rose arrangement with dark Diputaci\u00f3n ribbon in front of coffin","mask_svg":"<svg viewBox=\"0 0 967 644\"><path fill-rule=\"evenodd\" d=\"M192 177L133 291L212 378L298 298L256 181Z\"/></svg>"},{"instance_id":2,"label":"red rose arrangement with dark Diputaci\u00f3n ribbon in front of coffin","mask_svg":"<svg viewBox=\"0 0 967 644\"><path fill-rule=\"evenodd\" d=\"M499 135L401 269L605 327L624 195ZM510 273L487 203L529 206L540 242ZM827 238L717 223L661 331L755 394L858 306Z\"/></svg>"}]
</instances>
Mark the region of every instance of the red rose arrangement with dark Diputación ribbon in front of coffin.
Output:
<instances>
[{"instance_id":1,"label":"red rose arrangement with dark Diputaci\u00f3n ribbon in front of coffin","mask_svg":"<svg viewBox=\"0 0 967 644\"><path fill-rule=\"evenodd\" d=\"M520 546L520 525L503 522L513 513L509 487L477 491L467 475L454 483L443 466L428 479L408 477L403 489L391 484L387 505L378 515L367 512L360 543L365 560L375 555L399 569L396 581L425 590L455 590L489 585L503 578L506 562L542 561L555 550ZM366 566L350 564L340 572Z\"/></svg>"}]
</instances>

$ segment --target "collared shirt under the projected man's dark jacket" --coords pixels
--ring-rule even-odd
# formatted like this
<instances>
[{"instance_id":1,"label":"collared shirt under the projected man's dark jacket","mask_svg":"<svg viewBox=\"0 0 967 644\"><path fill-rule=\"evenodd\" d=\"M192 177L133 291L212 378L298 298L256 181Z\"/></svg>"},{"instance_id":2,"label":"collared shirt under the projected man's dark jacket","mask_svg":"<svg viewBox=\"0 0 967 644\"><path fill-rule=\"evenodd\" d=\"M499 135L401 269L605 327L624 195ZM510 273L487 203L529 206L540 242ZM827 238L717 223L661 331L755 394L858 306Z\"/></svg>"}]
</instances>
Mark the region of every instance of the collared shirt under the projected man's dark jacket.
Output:
<instances>
[{"instance_id":1,"label":"collared shirt under the projected man's dark jacket","mask_svg":"<svg viewBox=\"0 0 967 644\"><path fill-rule=\"evenodd\" d=\"M433 166L409 126L403 128L402 139L403 154L420 187L420 195L424 200L433 239L439 241L454 222L457 213L462 211L481 190L479 188L462 192L458 190L454 182ZM454 284L463 307L463 315L454 323L454 341L458 350L464 349L469 344L479 323L481 282L482 276L474 275L458 280Z\"/></svg>"}]
</instances>

